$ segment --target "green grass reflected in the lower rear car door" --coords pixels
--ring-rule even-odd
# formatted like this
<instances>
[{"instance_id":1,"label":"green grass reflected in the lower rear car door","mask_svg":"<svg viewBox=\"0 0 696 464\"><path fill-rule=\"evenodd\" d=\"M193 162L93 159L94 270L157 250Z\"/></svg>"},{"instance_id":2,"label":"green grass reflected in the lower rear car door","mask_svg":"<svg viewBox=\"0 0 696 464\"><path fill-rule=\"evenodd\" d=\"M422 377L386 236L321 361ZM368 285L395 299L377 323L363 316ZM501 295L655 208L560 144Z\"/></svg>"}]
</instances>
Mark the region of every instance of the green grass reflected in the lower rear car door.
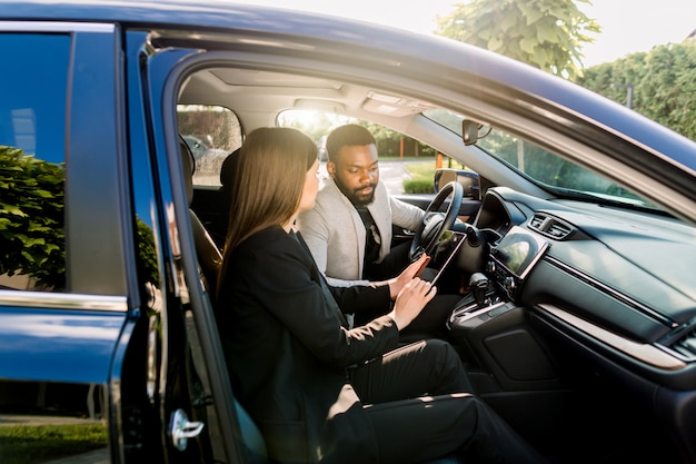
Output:
<instances>
[{"instance_id":1,"label":"green grass reflected in the lower rear car door","mask_svg":"<svg viewBox=\"0 0 696 464\"><path fill-rule=\"evenodd\" d=\"M0 426L0 463L28 464L107 446L107 427L83 425Z\"/></svg>"}]
</instances>

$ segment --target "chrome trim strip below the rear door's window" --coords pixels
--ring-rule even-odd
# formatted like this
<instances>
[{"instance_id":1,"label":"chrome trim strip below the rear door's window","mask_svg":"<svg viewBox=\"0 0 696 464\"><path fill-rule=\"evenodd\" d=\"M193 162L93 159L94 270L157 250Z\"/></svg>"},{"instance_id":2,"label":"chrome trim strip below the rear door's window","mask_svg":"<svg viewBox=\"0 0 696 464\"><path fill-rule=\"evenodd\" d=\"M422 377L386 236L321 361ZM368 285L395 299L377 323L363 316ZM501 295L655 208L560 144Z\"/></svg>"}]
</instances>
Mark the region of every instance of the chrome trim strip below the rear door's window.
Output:
<instances>
[{"instance_id":1,"label":"chrome trim strip below the rear door's window","mask_svg":"<svg viewBox=\"0 0 696 464\"><path fill-rule=\"evenodd\" d=\"M125 296L0 290L0 306L126 313Z\"/></svg>"}]
</instances>

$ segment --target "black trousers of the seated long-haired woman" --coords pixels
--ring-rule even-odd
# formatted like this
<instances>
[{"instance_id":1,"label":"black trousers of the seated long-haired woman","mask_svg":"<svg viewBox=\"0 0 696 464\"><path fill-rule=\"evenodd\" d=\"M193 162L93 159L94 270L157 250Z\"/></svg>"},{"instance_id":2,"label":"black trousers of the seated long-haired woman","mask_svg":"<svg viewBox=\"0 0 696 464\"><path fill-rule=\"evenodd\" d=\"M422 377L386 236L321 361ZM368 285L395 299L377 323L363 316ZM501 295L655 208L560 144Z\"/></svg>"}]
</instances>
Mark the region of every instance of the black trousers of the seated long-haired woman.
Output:
<instances>
[{"instance_id":1,"label":"black trousers of the seated long-haired woman","mask_svg":"<svg viewBox=\"0 0 696 464\"><path fill-rule=\"evenodd\" d=\"M456 453L466 463L546 462L473 393L455 349L428 339L349 369L372 422L380 463Z\"/></svg>"}]
</instances>

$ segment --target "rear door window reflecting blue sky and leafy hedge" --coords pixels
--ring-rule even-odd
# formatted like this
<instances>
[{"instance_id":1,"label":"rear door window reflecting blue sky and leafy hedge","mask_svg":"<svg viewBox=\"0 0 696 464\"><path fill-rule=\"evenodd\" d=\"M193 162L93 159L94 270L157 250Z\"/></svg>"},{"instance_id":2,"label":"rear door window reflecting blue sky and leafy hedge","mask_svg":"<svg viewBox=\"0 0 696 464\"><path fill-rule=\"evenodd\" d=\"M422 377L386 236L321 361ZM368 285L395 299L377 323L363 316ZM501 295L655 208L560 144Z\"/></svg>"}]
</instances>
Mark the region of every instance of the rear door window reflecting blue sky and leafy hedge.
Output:
<instances>
[{"instance_id":1,"label":"rear door window reflecting blue sky and leafy hedge","mask_svg":"<svg viewBox=\"0 0 696 464\"><path fill-rule=\"evenodd\" d=\"M4 33L0 50L0 289L60 292L70 38Z\"/></svg>"}]
</instances>

